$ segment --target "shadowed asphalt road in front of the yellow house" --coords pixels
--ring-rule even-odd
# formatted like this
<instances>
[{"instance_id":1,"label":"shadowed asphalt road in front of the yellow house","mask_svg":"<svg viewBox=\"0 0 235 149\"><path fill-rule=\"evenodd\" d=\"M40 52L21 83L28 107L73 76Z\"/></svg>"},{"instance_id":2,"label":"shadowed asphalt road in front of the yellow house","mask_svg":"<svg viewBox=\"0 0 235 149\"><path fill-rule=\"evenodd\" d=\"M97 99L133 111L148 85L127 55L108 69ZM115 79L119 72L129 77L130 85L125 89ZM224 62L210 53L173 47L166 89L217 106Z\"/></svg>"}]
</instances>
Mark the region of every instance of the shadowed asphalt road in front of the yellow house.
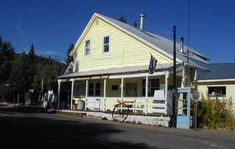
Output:
<instances>
[{"instance_id":1,"label":"shadowed asphalt road in front of the yellow house","mask_svg":"<svg viewBox=\"0 0 235 149\"><path fill-rule=\"evenodd\" d=\"M226 132L116 123L6 106L0 106L0 135L4 148L235 148L235 135Z\"/></svg>"}]
</instances>

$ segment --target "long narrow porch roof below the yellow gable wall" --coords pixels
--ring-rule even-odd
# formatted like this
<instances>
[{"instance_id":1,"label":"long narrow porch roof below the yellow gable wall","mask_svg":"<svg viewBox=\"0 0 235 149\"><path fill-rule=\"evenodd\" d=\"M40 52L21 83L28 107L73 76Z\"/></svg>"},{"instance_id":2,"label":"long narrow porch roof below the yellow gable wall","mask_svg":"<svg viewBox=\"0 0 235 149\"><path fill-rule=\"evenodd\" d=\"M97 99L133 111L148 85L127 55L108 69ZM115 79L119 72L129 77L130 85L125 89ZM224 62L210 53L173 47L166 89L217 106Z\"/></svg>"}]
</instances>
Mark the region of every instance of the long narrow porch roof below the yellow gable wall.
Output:
<instances>
[{"instance_id":1,"label":"long narrow porch roof below the yellow gable wall","mask_svg":"<svg viewBox=\"0 0 235 149\"><path fill-rule=\"evenodd\" d=\"M171 71L172 64L157 65L155 71ZM91 76L103 76L103 75L114 75L114 74L131 74L131 73L143 73L148 72L148 66L131 66L122 68L110 68L103 70L93 70L93 71L83 71L75 72L66 75L61 75L58 79L68 79L68 78L79 78L79 77L91 77Z\"/></svg>"}]
</instances>

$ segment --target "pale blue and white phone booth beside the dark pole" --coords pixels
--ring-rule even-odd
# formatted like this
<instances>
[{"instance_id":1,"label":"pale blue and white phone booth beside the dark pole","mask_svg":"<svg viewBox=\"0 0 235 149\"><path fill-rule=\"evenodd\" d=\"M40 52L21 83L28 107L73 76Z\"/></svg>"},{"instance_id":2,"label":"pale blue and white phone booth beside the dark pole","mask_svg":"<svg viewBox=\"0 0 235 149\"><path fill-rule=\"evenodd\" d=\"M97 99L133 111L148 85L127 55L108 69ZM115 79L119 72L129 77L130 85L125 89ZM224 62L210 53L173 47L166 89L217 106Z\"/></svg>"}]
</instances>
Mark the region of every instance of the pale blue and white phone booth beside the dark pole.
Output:
<instances>
[{"instance_id":1,"label":"pale blue and white phone booth beside the dark pole","mask_svg":"<svg viewBox=\"0 0 235 149\"><path fill-rule=\"evenodd\" d=\"M191 87L177 89L177 117L176 128L190 129L191 115Z\"/></svg>"}]
</instances>

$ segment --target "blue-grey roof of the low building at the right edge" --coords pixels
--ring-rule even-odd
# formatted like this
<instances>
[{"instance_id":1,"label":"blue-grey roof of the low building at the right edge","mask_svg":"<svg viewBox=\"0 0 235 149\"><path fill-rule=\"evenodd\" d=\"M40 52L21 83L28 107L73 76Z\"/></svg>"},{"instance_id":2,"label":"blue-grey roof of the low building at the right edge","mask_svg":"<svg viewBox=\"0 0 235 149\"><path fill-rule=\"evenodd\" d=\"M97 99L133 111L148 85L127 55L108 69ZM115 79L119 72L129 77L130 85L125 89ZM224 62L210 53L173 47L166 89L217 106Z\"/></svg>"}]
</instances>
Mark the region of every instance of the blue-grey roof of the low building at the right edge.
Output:
<instances>
[{"instance_id":1,"label":"blue-grey roof of the low building at the right edge","mask_svg":"<svg viewBox=\"0 0 235 149\"><path fill-rule=\"evenodd\" d=\"M235 79L235 63L212 63L208 64L208 71L198 71L197 80L225 79Z\"/></svg>"}]
</instances>

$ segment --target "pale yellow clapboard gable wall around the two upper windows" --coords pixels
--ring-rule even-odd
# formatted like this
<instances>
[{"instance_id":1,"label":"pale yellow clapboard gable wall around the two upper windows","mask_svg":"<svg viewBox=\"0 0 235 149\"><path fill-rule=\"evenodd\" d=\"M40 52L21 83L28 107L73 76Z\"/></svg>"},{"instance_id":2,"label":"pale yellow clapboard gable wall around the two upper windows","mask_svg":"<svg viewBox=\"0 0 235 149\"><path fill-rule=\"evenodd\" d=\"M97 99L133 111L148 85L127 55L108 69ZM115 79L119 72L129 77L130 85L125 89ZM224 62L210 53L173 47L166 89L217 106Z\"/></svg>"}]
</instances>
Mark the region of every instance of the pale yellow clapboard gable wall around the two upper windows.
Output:
<instances>
[{"instance_id":1,"label":"pale yellow clapboard gable wall around the two upper windows","mask_svg":"<svg viewBox=\"0 0 235 149\"><path fill-rule=\"evenodd\" d=\"M96 21L98 20L98 25ZM103 38L109 36L109 53L103 53ZM90 55L85 56L85 41L90 40ZM114 67L143 66L149 64L150 53L161 64L171 63L170 58L155 49L96 18L76 49L79 71L91 71Z\"/></svg>"}]
</instances>

